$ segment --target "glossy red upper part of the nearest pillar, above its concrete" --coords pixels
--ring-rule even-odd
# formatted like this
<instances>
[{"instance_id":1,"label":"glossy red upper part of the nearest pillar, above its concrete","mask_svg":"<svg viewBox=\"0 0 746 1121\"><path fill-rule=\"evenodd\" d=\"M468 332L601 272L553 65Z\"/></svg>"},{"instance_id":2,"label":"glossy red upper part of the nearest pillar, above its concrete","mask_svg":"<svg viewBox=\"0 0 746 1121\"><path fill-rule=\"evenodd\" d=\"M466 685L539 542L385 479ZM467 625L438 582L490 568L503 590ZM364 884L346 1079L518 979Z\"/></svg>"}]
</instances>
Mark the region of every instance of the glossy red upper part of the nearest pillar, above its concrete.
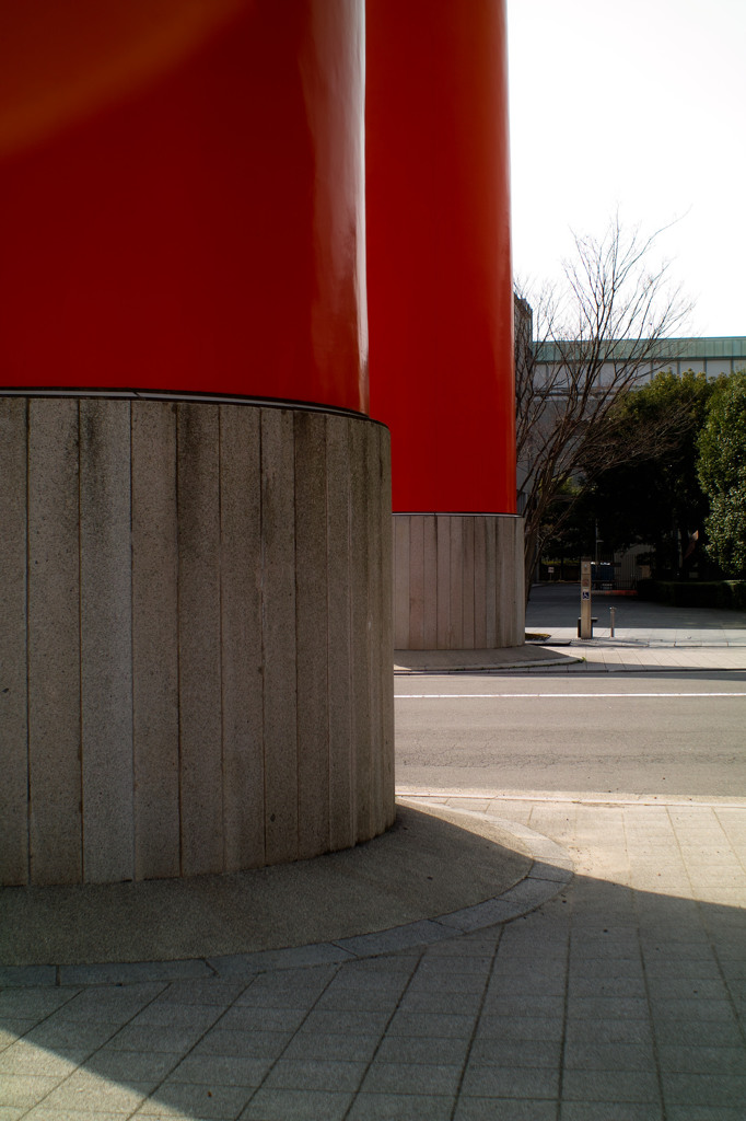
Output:
<instances>
[{"instance_id":1,"label":"glossy red upper part of the nearest pillar, above its concrete","mask_svg":"<svg viewBox=\"0 0 746 1121\"><path fill-rule=\"evenodd\" d=\"M367 409L363 4L0 3L0 386Z\"/></svg>"}]
</instances>

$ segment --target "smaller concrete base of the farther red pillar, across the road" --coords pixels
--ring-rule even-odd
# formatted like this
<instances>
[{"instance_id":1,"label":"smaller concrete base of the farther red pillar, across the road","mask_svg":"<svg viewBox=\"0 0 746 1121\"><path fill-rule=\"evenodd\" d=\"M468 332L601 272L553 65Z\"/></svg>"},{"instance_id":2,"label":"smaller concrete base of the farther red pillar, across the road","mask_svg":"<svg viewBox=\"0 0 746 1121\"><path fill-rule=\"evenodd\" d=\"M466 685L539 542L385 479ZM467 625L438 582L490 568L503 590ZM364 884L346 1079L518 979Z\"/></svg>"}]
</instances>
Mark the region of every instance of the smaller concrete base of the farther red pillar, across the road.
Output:
<instances>
[{"instance_id":1,"label":"smaller concrete base of the farther red pillar, across the road","mask_svg":"<svg viewBox=\"0 0 746 1121\"><path fill-rule=\"evenodd\" d=\"M393 526L398 650L523 645L521 518L395 513Z\"/></svg>"}]
</instances>

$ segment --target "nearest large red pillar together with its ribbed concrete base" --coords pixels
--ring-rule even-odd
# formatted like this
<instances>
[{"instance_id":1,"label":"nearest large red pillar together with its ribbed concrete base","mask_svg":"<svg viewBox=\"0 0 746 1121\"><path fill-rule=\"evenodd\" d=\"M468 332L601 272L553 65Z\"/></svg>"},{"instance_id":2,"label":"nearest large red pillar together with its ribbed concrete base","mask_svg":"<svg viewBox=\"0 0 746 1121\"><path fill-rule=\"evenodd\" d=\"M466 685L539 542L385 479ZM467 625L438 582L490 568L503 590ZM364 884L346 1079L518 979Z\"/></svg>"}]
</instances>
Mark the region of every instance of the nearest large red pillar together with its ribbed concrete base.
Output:
<instances>
[{"instance_id":1,"label":"nearest large red pillar together with its ribbed concrete base","mask_svg":"<svg viewBox=\"0 0 746 1121\"><path fill-rule=\"evenodd\" d=\"M1 0L0 55L0 883L366 840L363 0Z\"/></svg>"}]
</instances>

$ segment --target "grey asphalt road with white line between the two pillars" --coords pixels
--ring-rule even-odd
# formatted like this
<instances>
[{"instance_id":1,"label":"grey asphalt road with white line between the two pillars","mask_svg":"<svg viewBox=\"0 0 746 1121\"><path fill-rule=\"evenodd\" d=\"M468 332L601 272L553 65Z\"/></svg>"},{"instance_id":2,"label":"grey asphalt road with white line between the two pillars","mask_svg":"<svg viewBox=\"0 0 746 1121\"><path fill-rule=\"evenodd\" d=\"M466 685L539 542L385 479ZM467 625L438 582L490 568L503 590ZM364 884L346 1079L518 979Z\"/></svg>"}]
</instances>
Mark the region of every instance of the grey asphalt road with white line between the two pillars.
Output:
<instances>
[{"instance_id":1,"label":"grey asphalt road with white line between the two pillars","mask_svg":"<svg viewBox=\"0 0 746 1121\"><path fill-rule=\"evenodd\" d=\"M397 678L397 782L746 796L746 674Z\"/></svg>"}]
</instances>

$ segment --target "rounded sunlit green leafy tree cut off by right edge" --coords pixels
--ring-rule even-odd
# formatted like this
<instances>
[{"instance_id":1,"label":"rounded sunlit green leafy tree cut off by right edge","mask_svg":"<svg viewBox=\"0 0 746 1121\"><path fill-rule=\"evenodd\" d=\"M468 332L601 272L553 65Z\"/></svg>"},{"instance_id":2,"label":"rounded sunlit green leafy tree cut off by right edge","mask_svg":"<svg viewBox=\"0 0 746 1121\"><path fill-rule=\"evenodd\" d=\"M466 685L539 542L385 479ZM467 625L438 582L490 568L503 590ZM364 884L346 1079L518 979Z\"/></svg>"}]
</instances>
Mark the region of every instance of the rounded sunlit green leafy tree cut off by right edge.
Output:
<instances>
[{"instance_id":1,"label":"rounded sunlit green leafy tree cut off by right edge","mask_svg":"<svg viewBox=\"0 0 746 1121\"><path fill-rule=\"evenodd\" d=\"M726 576L746 575L746 370L724 378L699 437L699 480L710 501L708 552Z\"/></svg>"}]
</instances>

